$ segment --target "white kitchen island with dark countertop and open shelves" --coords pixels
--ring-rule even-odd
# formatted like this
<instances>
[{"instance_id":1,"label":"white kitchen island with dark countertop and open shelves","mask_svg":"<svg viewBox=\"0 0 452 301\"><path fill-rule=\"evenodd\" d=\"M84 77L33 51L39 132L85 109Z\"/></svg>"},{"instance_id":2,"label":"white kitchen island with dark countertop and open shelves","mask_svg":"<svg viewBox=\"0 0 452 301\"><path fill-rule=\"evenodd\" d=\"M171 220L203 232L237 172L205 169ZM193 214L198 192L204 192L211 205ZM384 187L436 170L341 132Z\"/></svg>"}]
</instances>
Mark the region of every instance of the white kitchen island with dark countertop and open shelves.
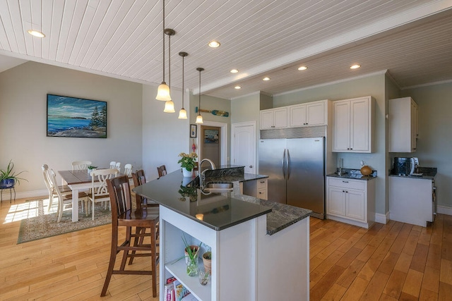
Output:
<instances>
[{"instance_id":1,"label":"white kitchen island with dark countertop and open shelves","mask_svg":"<svg viewBox=\"0 0 452 301\"><path fill-rule=\"evenodd\" d=\"M172 276L198 300L309 299L311 211L239 195L246 179L236 179L233 192L206 195L175 171L133 188L160 204L160 300ZM184 254L182 236L211 248L208 285L177 260Z\"/></svg>"}]
</instances>

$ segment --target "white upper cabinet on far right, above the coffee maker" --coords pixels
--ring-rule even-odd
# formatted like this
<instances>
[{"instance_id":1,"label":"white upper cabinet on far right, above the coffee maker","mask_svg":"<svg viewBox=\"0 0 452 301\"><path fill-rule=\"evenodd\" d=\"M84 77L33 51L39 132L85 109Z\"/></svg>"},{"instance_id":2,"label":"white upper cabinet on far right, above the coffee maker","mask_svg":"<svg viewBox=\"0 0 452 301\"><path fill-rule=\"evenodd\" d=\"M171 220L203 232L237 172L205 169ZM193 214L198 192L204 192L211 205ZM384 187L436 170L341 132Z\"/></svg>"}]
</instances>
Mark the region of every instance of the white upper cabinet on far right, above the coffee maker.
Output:
<instances>
[{"instance_id":1,"label":"white upper cabinet on far right, above the coffee maker","mask_svg":"<svg viewBox=\"0 0 452 301\"><path fill-rule=\"evenodd\" d=\"M389 152L416 152L417 111L411 97L389 99Z\"/></svg>"}]
</instances>

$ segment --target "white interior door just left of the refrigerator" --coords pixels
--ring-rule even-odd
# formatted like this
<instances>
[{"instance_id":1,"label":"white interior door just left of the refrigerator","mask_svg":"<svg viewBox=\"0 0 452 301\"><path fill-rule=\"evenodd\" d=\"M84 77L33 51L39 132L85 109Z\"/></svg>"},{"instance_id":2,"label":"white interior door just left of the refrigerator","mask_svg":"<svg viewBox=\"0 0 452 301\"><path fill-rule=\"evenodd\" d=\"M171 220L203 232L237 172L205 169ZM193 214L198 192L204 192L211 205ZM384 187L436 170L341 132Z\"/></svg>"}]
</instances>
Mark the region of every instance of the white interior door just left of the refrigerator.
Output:
<instances>
[{"instance_id":1,"label":"white interior door just left of the refrigerator","mask_svg":"<svg viewBox=\"0 0 452 301\"><path fill-rule=\"evenodd\" d=\"M232 123L232 165L256 173L256 123Z\"/></svg>"}]
</instances>

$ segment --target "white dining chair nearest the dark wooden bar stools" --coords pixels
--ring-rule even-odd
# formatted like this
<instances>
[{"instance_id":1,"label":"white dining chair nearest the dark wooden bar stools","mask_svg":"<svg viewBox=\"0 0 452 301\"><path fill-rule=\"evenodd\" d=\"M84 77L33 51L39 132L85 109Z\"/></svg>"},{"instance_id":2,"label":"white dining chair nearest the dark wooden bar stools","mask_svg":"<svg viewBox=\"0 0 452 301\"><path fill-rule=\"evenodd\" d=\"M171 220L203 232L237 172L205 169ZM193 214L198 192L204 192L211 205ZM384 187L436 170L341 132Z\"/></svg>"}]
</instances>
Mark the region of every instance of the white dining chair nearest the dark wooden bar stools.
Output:
<instances>
[{"instance_id":1,"label":"white dining chair nearest the dark wooden bar stools","mask_svg":"<svg viewBox=\"0 0 452 301\"><path fill-rule=\"evenodd\" d=\"M94 221L94 205L99 202L108 202L108 206L110 207L110 197L107 188L107 179L112 179L118 176L119 171L116 168L108 168L108 169L97 169L91 172L91 193L89 195L90 202L88 203L91 207L92 219ZM96 181L97 177L97 181ZM105 205L107 207L107 205Z\"/></svg>"}]
</instances>

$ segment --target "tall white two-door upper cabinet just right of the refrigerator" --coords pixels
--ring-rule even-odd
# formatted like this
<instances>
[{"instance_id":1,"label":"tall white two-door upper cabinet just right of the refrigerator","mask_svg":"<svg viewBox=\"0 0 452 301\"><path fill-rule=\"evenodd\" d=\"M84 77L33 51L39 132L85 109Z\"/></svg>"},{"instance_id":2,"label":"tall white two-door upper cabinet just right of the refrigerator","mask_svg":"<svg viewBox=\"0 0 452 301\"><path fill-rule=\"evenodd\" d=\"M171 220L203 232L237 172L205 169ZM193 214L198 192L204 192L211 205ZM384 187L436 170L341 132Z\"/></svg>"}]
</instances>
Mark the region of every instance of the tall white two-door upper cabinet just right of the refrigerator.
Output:
<instances>
[{"instance_id":1,"label":"tall white two-door upper cabinet just right of the refrigerator","mask_svg":"<svg viewBox=\"0 0 452 301\"><path fill-rule=\"evenodd\" d=\"M372 152L372 97L333 102L333 119L333 152Z\"/></svg>"}]
</instances>

